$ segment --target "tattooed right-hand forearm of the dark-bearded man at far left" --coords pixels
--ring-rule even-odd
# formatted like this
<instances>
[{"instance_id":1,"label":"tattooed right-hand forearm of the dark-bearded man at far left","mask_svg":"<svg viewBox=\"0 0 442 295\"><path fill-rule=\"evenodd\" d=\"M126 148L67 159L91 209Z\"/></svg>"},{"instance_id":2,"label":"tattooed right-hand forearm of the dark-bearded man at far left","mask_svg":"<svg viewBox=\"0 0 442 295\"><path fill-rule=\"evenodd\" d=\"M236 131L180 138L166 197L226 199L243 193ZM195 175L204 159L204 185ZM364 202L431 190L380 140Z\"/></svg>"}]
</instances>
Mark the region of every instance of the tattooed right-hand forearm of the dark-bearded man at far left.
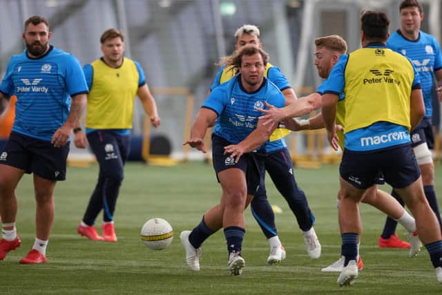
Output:
<instances>
[{"instance_id":1,"label":"tattooed right-hand forearm of the dark-bearded man at far left","mask_svg":"<svg viewBox=\"0 0 442 295\"><path fill-rule=\"evenodd\" d=\"M66 122L55 131L50 141L55 147L66 145L69 140L70 133L75 126L78 126L78 122L86 108L86 93L81 93L72 97L70 102L70 112Z\"/></svg>"}]
</instances>

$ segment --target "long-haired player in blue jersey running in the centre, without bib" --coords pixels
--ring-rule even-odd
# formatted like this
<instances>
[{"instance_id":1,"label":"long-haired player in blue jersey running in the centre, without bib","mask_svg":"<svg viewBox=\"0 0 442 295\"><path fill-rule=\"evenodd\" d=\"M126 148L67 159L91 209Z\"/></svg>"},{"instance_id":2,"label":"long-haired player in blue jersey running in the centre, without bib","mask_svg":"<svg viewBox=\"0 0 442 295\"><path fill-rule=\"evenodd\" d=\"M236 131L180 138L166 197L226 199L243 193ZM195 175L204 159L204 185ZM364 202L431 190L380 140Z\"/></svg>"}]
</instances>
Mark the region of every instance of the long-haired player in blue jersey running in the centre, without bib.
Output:
<instances>
[{"instance_id":1,"label":"long-haired player in blue jersey running in the centre, without bib","mask_svg":"<svg viewBox=\"0 0 442 295\"><path fill-rule=\"evenodd\" d=\"M212 133L213 169L222 187L220 203L204 213L202 222L192 231L182 231L180 239L186 251L186 263L200 270L201 245L219 229L224 229L229 253L229 271L240 275L245 266L242 240L245 234L244 209L260 186L264 144L277 124L266 129L258 123L265 102L284 106L285 97L264 77L269 56L250 44L225 59L225 66L238 68L238 75L213 89L206 99L184 144L206 152L203 138L209 126ZM296 104L296 102L294 102Z\"/></svg>"}]
</instances>

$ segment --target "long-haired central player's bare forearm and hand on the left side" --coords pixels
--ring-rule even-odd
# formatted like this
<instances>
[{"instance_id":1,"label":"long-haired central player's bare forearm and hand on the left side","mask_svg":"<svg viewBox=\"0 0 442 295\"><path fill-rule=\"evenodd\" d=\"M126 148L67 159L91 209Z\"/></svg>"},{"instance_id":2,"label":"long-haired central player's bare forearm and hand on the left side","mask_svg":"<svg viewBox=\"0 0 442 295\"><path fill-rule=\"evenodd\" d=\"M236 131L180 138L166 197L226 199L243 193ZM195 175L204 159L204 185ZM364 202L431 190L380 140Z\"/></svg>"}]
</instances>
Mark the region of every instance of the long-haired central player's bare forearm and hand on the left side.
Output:
<instances>
[{"instance_id":1,"label":"long-haired central player's bare forearm and hand on the left side","mask_svg":"<svg viewBox=\"0 0 442 295\"><path fill-rule=\"evenodd\" d=\"M212 111L209 108L200 108L195 122L192 125L191 137L189 140L186 140L183 145L189 144L193 148L198 149L198 151L206 153L204 147L204 135L206 135L207 129L215 124L217 117L218 114L215 113L215 111Z\"/></svg>"}]
</instances>

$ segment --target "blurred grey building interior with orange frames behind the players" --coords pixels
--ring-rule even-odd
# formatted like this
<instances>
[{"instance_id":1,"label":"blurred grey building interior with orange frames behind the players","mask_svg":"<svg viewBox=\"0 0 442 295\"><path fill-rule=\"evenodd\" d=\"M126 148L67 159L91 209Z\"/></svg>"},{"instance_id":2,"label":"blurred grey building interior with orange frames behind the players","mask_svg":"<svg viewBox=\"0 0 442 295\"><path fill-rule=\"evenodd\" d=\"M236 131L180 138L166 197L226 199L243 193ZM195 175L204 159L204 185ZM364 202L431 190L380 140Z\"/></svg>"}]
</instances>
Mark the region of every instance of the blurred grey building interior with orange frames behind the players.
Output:
<instances>
[{"instance_id":1,"label":"blurred grey building interior with orange frames behind the players","mask_svg":"<svg viewBox=\"0 0 442 295\"><path fill-rule=\"evenodd\" d=\"M320 84L313 63L314 38L338 34L349 51L360 46L363 10L383 10L391 19L390 31L399 26L400 0L0 0L0 73L3 77L11 55L24 49L23 21L41 15L50 22L50 44L73 53L81 65L101 56L99 37L108 28L125 35L126 56L139 61L155 95L162 125L146 130L137 99L133 122L133 149L142 148L175 159L202 158L183 149L184 137L206 98L220 57L234 48L237 28L251 23L260 28L263 48L271 64L280 67L298 97ZM442 5L422 0L422 30L441 41ZM434 103L434 128L439 134L440 108ZM148 137L149 146L146 147ZM146 138L145 138L146 139ZM436 140L439 150L439 137ZM143 143L144 142L144 143ZM294 160L323 162L330 149L323 133L289 135ZM149 142L147 142L149 144ZM81 158L88 151L71 150ZM137 158L135 155L135 158ZM438 156L438 155L436 155ZM333 158L331 158L333 159Z\"/></svg>"}]
</instances>

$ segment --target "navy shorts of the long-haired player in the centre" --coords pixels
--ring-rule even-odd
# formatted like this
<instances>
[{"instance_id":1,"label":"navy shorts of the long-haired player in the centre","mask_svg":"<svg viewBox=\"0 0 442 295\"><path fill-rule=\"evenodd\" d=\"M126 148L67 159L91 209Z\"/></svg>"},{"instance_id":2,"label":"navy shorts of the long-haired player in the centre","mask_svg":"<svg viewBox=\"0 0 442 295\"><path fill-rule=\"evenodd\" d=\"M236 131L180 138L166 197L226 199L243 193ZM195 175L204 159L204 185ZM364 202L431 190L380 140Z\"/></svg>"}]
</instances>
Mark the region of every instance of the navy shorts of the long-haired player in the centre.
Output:
<instances>
[{"instance_id":1,"label":"navy shorts of the long-haired player in the centre","mask_svg":"<svg viewBox=\"0 0 442 295\"><path fill-rule=\"evenodd\" d=\"M231 144L224 138L212 135L212 160L218 182L218 173L226 169L238 168L244 171L247 180L247 193L255 195L260 186L260 171L264 169L265 153L245 153L238 163L235 159L224 155L224 146Z\"/></svg>"}]
</instances>

